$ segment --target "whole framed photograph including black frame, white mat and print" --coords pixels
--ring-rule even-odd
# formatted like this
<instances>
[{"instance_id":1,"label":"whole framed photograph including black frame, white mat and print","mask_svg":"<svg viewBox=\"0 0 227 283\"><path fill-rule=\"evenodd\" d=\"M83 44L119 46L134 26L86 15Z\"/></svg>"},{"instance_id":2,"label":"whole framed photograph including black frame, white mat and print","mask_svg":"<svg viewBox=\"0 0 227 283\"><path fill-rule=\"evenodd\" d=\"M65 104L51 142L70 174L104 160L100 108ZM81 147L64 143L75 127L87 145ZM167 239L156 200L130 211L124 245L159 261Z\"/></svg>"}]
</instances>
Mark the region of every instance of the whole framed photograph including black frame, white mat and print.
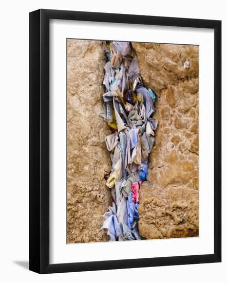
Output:
<instances>
[{"instance_id":1,"label":"whole framed photograph including black frame, white mat and print","mask_svg":"<svg viewBox=\"0 0 227 283\"><path fill-rule=\"evenodd\" d=\"M220 262L221 21L29 19L29 269Z\"/></svg>"}]
</instances>

